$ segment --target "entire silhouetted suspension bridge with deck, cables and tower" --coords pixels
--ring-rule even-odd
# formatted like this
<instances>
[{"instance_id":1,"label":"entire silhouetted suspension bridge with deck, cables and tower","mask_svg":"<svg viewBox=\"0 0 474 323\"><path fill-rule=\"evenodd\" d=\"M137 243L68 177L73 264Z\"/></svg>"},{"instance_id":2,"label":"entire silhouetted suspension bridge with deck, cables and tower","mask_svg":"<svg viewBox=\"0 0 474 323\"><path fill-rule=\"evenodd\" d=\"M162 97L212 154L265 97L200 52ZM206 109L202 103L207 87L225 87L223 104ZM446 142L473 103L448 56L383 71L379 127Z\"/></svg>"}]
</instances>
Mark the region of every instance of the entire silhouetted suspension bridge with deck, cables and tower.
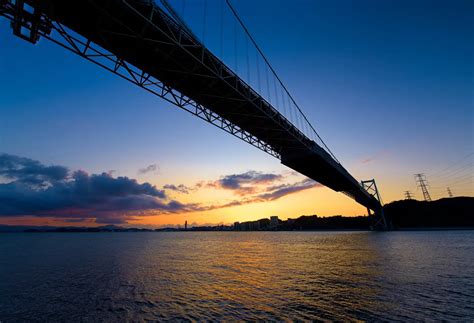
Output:
<instances>
[{"instance_id":1,"label":"entire silhouetted suspension bridge with deck, cables and tower","mask_svg":"<svg viewBox=\"0 0 474 323\"><path fill-rule=\"evenodd\" d=\"M244 35L233 41L232 67L223 58L224 49L229 51L223 45L229 38L224 5L234 30ZM207 0L204 18L206 6ZM221 57L206 46L206 24L198 37L167 0L0 0L0 16L11 21L14 35L31 43L45 38L68 49L347 194L367 208L374 229L389 227L375 181L359 182L341 165L229 0L221 0L220 29L213 27L220 30Z\"/></svg>"}]
</instances>

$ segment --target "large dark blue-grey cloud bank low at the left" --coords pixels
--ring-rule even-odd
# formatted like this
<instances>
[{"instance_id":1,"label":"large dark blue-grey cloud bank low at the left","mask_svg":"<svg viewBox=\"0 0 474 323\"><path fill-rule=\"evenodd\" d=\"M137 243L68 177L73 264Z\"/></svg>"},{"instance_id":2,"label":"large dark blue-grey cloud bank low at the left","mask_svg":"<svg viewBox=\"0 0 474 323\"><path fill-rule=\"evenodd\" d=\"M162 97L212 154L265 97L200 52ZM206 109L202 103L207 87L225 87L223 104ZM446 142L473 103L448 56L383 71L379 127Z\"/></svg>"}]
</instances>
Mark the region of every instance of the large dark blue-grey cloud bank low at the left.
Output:
<instances>
[{"instance_id":1,"label":"large dark blue-grey cloud bank low at the left","mask_svg":"<svg viewBox=\"0 0 474 323\"><path fill-rule=\"evenodd\" d=\"M199 210L195 204L168 200L149 183L108 173L70 172L62 166L0 154L0 216L95 218L97 223L124 223L150 211L176 213Z\"/></svg>"}]
</instances>

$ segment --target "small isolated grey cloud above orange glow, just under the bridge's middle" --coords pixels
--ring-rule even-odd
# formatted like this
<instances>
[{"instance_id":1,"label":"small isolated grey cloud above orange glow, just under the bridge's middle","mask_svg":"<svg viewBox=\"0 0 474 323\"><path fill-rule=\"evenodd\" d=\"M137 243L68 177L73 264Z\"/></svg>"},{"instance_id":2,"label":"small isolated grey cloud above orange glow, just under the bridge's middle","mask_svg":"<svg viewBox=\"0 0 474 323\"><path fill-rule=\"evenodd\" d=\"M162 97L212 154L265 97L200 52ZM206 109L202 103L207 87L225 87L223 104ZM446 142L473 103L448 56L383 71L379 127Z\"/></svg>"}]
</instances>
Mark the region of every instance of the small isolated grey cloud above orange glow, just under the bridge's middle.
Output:
<instances>
[{"instance_id":1,"label":"small isolated grey cloud above orange glow, just under the bridge's middle","mask_svg":"<svg viewBox=\"0 0 474 323\"><path fill-rule=\"evenodd\" d=\"M219 180L208 183L208 187L232 190L238 195L248 195L257 191L256 186L269 184L282 179L282 175L248 171L241 174L232 174L221 177Z\"/></svg>"}]
</instances>

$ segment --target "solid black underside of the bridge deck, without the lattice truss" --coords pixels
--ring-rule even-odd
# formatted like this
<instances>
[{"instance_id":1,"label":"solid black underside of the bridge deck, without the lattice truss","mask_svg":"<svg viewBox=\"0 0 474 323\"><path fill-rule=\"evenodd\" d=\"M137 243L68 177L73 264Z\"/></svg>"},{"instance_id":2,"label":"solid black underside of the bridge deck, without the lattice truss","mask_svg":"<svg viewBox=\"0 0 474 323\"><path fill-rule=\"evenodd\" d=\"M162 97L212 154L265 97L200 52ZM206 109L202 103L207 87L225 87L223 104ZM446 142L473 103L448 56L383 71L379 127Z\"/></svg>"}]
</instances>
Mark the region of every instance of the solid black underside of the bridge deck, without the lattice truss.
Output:
<instances>
[{"instance_id":1,"label":"solid black underside of the bridge deck, without the lattice truss","mask_svg":"<svg viewBox=\"0 0 474 323\"><path fill-rule=\"evenodd\" d=\"M263 140L288 167L369 208L377 207L378 202L326 151L150 1L29 2L50 19Z\"/></svg>"}]
</instances>

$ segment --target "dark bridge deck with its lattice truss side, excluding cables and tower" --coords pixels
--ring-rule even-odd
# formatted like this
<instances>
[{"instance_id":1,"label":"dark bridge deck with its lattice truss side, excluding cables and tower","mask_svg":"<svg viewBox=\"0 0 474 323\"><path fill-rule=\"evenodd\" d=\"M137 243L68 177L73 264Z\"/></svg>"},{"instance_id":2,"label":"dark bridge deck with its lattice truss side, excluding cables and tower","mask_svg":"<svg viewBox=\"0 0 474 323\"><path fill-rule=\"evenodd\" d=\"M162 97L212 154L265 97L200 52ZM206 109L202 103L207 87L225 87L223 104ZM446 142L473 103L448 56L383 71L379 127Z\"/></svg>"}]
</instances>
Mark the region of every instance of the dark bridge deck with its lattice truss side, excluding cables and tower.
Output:
<instances>
[{"instance_id":1,"label":"dark bridge deck with its lattice truss side, excluding cables and tower","mask_svg":"<svg viewBox=\"0 0 474 323\"><path fill-rule=\"evenodd\" d=\"M17 8L10 1L0 1L2 15L25 23L26 28L34 24L28 25L28 14L19 11L18 6L22 2L32 4L35 9L37 6L41 14L33 16L43 24L36 21L36 26L47 26L34 28L38 35L280 158L283 164L308 177L346 192L361 204L371 207L379 204L330 153L307 138L151 1L132 0L141 11L130 6L127 0L71 0L67 3L17 0ZM113 6L107 7L111 3ZM53 5L54 10L48 10L48 6ZM125 5L129 8L124 8ZM90 21L84 21L86 15ZM122 15L126 15L126 24L117 19ZM104 19L108 19L105 26ZM60 20L66 20L68 27ZM156 58L166 64L161 61L157 64ZM197 84L189 83L190 80Z\"/></svg>"}]
</instances>

